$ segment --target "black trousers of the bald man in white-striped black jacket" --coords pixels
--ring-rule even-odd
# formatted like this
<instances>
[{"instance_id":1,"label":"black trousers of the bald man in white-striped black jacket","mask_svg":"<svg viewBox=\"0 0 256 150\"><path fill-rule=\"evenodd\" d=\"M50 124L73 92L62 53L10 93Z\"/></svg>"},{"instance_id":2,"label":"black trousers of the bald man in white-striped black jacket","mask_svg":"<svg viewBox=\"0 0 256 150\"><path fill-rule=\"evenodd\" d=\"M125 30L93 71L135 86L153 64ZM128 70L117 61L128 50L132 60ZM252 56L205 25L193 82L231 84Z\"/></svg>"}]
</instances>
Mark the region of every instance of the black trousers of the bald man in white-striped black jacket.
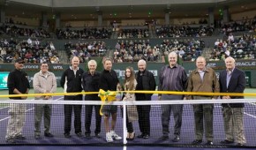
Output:
<instances>
[{"instance_id":1,"label":"black trousers of the bald man in white-striped black jacket","mask_svg":"<svg viewBox=\"0 0 256 150\"><path fill-rule=\"evenodd\" d=\"M82 95L64 96L66 101L82 101ZM82 105L64 105L64 133L70 133L72 126L72 112L74 111L75 133L81 132Z\"/></svg>"}]
</instances>

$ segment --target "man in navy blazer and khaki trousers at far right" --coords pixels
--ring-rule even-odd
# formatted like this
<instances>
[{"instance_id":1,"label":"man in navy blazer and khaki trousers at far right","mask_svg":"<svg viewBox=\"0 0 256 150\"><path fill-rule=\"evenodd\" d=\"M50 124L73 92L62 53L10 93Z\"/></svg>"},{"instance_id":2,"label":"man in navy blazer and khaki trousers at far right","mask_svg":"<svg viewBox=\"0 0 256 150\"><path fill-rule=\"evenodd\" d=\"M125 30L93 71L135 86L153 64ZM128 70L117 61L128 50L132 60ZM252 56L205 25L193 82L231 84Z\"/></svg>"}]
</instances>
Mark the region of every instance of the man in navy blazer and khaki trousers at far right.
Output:
<instances>
[{"instance_id":1,"label":"man in navy blazer and khaki trousers at far right","mask_svg":"<svg viewBox=\"0 0 256 150\"><path fill-rule=\"evenodd\" d=\"M226 70L220 73L221 93L244 93L245 72L235 67L235 59L227 57L225 59ZM222 99L244 99L244 96L221 96ZM222 113L224 119L224 130L226 139L222 144L232 144L235 139L237 146L244 146L246 143L243 114L244 103L222 103ZM234 137L235 136L235 137Z\"/></svg>"}]
</instances>

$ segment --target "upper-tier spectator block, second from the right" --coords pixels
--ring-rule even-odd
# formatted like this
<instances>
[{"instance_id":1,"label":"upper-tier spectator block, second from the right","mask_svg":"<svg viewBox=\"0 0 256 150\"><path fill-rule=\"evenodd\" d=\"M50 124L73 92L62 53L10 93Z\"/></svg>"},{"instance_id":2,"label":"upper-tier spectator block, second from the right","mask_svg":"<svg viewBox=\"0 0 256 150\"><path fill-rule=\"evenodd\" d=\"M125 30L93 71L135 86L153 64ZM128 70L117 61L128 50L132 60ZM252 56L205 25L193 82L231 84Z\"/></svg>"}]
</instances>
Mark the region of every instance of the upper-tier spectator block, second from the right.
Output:
<instances>
[{"instance_id":1,"label":"upper-tier spectator block, second from the right","mask_svg":"<svg viewBox=\"0 0 256 150\"><path fill-rule=\"evenodd\" d=\"M156 28L155 33L158 38L202 37L211 36L214 30L214 26L162 26Z\"/></svg>"}]
</instances>

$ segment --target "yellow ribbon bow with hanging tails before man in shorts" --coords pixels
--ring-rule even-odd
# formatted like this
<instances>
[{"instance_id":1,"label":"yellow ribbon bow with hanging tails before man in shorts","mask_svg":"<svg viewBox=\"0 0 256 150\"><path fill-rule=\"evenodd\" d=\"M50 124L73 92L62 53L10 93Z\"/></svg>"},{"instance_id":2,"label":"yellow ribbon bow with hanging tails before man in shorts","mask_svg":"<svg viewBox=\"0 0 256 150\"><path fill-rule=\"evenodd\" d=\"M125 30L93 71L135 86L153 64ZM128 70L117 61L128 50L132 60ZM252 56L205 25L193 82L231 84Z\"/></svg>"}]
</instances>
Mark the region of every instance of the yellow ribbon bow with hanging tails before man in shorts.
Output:
<instances>
[{"instance_id":1,"label":"yellow ribbon bow with hanging tails before man in shorts","mask_svg":"<svg viewBox=\"0 0 256 150\"><path fill-rule=\"evenodd\" d=\"M103 106L110 101L116 101L116 95L117 95L117 92L111 92L109 90L105 92L104 90L100 89L98 96L102 100L102 107L100 109L101 116L103 116L103 113L102 113Z\"/></svg>"}]
</instances>

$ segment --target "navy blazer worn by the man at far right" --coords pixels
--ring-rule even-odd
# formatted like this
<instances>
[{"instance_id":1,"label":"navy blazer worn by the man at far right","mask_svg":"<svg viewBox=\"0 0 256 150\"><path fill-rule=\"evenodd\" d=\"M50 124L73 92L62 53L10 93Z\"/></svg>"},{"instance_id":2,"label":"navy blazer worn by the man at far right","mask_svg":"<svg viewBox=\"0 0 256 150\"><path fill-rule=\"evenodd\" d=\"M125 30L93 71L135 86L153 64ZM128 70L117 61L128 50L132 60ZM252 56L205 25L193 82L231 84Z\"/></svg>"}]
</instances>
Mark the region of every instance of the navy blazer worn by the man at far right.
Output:
<instances>
[{"instance_id":1,"label":"navy blazer worn by the man at far right","mask_svg":"<svg viewBox=\"0 0 256 150\"><path fill-rule=\"evenodd\" d=\"M221 93L244 93L246 83L245 72L235 68L231 74L229 86L227 87L227 71L222 71L220 73L219 82ZM244 96L230 96L230 98L244 99ZM243 108L244 103L222 103L222 106L231 108Z\"/></svg>"}]
</instances>

